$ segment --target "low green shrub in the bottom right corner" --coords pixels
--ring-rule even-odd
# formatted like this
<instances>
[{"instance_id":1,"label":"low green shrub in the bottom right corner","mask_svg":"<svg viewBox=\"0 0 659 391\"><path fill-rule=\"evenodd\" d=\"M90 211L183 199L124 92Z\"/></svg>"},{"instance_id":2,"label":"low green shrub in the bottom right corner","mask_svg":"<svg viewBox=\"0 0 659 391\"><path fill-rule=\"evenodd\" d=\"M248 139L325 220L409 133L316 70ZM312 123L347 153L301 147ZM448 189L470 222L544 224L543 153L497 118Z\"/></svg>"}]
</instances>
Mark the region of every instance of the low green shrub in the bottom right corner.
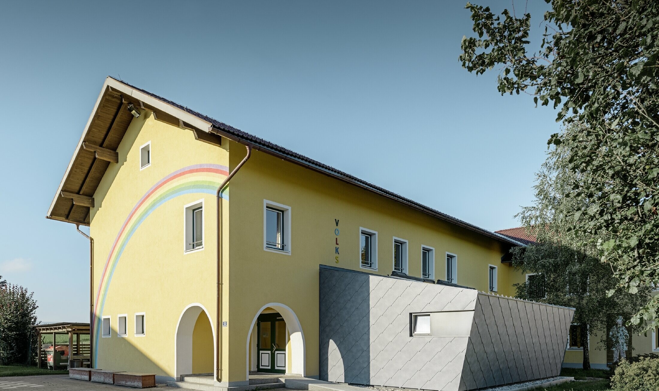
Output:
<instances>
[{"instance_id":1,"label":"low green shrub in the bottom right corner","mask_svg":"<svg viewBox=\"0 0 659 391\"><path fill-rule=\"evenodd\" d=\"M659 390L659 359L639 357L633 363L622 360L611 377L614 391Z\"/></svg>"}]
</instances>

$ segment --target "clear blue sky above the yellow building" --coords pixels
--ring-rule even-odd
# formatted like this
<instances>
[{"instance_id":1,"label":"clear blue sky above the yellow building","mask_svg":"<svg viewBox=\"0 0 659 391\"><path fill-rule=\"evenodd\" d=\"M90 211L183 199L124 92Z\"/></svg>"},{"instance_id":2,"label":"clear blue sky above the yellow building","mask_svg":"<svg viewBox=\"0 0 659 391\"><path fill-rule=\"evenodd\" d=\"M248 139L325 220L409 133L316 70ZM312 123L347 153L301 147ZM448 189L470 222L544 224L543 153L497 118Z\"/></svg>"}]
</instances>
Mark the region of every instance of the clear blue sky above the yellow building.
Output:
<instances>
[{"instance_id":1,"label":"clear blue sky above the yellow building","mask_svg":"<svg viewBox=\"0 0 659 391\"><path fill-rule=\"evenodd\" d=\"M88 241L44 216L107 75L486 229L517 226L559 125L502 97L497 71L462 69L463 7L4 3L0 275L35 292L40 320L88 320ZM544 7L529 4L534 26Z\"/></svg>"}]
</instances>

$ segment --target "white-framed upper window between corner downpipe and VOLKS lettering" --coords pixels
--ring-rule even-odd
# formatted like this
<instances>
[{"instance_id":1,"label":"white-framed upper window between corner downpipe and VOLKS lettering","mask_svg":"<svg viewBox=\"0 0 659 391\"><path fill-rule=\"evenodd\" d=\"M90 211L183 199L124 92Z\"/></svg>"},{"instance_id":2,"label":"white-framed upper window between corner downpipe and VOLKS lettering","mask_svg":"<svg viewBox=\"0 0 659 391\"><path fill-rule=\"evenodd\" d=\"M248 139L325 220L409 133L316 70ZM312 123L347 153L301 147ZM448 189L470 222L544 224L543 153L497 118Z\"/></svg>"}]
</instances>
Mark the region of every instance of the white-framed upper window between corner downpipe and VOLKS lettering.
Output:
<instances>
[{"instance_id":1,"label":"white-framed upper window between corner downpipe and VOLKS lettering","mask_svg":"<svg viewBox=\"0 0 659 391\"><path fill-rule=\"evenodd\" d=\"M291 207L263 200L263 249L291 255Z\"/></svg>"}]
</instances>

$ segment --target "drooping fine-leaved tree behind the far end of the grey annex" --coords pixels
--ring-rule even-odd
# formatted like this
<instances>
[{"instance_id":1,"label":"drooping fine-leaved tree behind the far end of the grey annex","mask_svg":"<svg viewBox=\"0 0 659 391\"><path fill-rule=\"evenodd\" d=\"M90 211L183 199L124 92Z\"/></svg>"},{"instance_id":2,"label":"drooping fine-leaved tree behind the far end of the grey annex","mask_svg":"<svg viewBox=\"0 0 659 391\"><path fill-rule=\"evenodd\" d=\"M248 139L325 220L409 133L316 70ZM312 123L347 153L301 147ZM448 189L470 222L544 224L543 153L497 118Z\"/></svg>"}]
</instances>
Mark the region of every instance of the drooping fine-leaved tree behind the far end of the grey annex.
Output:
<instances>
[{"instance_id":1,"label":"drooping fine-leaved tree behind the far end of the grey annex","mask_svg":"<svg viewBox=\"0 0 659 391\"><path fill-rule=\"evenodd\" d=\"M568 127L564 133L579 131L575 128ZM617 284L614 272L600 262L592 238L571 230L570 220L564 218L583 207L579 204L583 200L564 196L579 181L579 174L569 169L569 156L566 144L550 150L537 174L534 204L517 215L536 242L525 249L515 249L513 265L524 272L538 273L542 279L536 276L515 288L517 297L522 299L575 308L573 324L581 328L583 369L590 369L588 335L600 330L601 342L606 342L604 331L615 323L617 316L631 318L646 303L651 289L645 287L642 294L636 295L607 295Z\"/></svg>"}]
</instances>

